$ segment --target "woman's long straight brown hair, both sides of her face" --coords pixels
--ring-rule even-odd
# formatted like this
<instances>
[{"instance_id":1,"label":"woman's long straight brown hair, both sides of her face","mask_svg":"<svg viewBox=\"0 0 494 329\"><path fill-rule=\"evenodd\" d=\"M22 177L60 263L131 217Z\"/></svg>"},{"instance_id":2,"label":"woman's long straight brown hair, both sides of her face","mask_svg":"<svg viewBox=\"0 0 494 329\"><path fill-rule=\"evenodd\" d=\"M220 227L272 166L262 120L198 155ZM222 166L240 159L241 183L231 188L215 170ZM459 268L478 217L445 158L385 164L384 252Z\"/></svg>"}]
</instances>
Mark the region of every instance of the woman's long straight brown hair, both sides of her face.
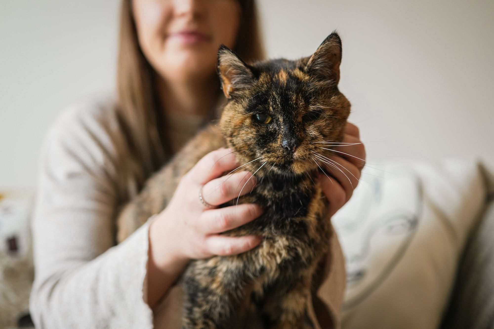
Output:
<instances>
[{"instance_id":1,"label":"woman's long straight brown hair, both sides of her face","mask_svg":"<svg viewBox=\"0 0 494 329\"><path fill-rule=\"evenodd\" d=\"M235 50L246 61L264 57L254 0L238 0L241 21ZM118 109L132 152L149 176L164 164L166 146L160 138L154 69L139 47L131 0L122 0L117 66ZM219 90L218 90L219 92Z\"/></svg>"}]
</instances>

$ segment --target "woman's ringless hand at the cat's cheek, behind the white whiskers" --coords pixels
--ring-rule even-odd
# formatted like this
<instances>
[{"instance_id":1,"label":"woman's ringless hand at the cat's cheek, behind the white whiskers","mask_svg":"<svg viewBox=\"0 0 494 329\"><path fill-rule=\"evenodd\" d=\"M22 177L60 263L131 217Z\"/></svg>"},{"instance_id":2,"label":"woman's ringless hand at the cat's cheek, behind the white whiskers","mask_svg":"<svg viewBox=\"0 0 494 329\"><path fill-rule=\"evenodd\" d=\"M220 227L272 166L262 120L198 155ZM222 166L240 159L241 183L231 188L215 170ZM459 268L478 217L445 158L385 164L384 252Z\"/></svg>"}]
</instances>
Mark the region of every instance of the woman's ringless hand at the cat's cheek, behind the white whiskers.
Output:
<instances>
[{"instance_id":1,"label":"woman's ringless hand at the cat's cheek, behind the white whiskers","mask_svg":"<svg viewBox=\"0 0 494 329\"><path fill-rule=\"evenodd\" d=\"M338 211L353 194L360 179L360 171L365 165L366 150L364 144L360 141L359 128L352 123L347 123L345 127L345 136L340 146L335 146L334 156L328 156L329 159L336 162L334 166L324 164L324 169L328 173L319 175L323 192L329 201L329 215L332 216ZM353 144L353 145L351 145ZM337 155L336 155L337 154ZM360 159L364 160L360 160Z\"/></svg>"}]
</instances>

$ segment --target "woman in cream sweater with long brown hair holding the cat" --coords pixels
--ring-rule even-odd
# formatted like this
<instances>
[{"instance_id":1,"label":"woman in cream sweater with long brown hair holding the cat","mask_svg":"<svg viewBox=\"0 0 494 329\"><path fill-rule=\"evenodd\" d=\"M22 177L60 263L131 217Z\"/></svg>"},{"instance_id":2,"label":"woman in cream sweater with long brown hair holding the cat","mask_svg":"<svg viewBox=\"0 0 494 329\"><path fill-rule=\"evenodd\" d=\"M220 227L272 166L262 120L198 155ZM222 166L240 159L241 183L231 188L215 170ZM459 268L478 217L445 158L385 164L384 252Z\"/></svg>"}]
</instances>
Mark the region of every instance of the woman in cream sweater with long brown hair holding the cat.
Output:
<instances>
[{"instance_id":1,"label":"woman in cream sweater with long brown hair holding the cat","mask_svg":"<svg viewBox=\"0 0 494 329\"><path fill-rule=\"evenodd\" d=\"M195 183L182 179L165 210L115 246L119 208L217 115L219 44L247 61L259 59L257 32L253 0L123 1L117 99L100 97L65 111L44 143L33 222L36 279L30 308L37 328L178 328L180 288L173 283L186 264L260 243L257 237L217 234L258 217L258 206L239 205L226 216L226 208L206 210ZM354 125L346 133L345 141L360 143ZM365 157L361 145L347 151ZM213 205L234 197L207 192L217 177L208 177L204 163L219 158L219 171L237 166L233 154L220 149L191 170L205 181L204 195ZM363 166L334 160L352 175L350 182L328 168L332 181L320 178L331 214L348 201ZM245 174L228 184L237 186ZM220 230L218 218L225 219ZM321 299L335 316L344 269L338 246L331 252L331 273L339 277L331 281L326 274L322 285L339 285L331 293L336 302ZM319 304L314 301L316 313Z\"/></svg>"}]
</instances>

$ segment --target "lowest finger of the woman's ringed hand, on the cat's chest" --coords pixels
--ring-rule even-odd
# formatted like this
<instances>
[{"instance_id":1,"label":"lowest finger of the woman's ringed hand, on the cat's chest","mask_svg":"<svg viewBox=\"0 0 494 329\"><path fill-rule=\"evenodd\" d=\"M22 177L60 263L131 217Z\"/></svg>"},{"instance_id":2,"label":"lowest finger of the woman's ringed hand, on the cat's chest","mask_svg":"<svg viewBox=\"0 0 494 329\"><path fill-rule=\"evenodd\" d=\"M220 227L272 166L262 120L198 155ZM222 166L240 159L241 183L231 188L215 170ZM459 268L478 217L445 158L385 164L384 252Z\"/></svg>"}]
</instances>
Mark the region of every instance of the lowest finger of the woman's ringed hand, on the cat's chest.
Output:
<instances>
[{"instance_id":1,"label":"lowest finger of the woman's ringed hand, on the cat's chest","mask_svg":"<svg viewBox=\"0 0 494 329\"><path fill-rule=\"evenodd\" d=\"M229 256L246 252L256 247L263 238L258 236L226 237L211 235L206 238L206 249L213 255Z\"/></svg>"}]
</instances>

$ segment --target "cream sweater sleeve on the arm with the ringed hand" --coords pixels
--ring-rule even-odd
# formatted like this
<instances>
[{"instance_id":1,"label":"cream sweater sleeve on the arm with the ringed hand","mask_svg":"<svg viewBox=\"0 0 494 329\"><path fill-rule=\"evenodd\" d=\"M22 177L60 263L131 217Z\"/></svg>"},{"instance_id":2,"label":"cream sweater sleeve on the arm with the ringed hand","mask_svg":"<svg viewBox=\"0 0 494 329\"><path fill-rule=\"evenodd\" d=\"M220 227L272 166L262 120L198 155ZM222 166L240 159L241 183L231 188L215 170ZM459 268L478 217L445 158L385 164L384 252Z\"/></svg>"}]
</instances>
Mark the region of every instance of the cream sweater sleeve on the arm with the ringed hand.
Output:
<instances>
[{"instance_id":1,"label":"cream sweater sleeve on the arm with the ringed hand","mask_svg":"<svg viewBox=\"0 0 494 329\"><path fill-rule=\"evenodd\" d=\"M153 328L145 295L151 219L114 246L117 151L105 124L82 112L62 115L44 142L31 316L39 329Z\"/></svg>"}]
</instances>

